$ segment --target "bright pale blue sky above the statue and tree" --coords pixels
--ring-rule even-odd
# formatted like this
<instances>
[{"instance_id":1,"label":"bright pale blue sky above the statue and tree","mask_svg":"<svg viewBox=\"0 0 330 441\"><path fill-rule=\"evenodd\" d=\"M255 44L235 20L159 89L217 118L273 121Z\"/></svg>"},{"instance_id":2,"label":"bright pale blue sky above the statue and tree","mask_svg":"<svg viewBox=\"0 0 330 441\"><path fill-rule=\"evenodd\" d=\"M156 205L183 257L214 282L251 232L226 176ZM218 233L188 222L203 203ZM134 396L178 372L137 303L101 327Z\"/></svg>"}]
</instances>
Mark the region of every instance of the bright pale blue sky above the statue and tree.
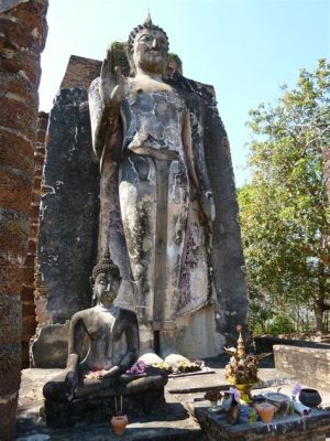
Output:
<instances>
[{"instance_id":1,"label":"bright pale blue sky above the statue and tree","mask_svg":"<svg viewBox=\"0 0 330 441\"><path fill-rule=\"evenodd\" d=\"M102 60L150 9L183 61L184 75L211 84L231 143L237 185L244 169L249 109L274 103L299 68L330 54L330 0L50 0L40 108L48 111L70 55Z\"/></svg>"}]
</instances>

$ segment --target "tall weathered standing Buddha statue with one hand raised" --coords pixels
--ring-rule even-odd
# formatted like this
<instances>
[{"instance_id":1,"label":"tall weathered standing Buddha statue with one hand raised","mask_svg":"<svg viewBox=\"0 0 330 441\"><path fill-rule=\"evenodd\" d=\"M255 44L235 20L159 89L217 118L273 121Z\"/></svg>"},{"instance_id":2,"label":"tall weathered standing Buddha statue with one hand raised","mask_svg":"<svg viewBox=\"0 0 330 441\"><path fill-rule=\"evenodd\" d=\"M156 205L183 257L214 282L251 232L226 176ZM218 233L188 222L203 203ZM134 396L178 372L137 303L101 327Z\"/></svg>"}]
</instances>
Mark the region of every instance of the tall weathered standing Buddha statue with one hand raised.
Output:
<instances>
[{"instance_id":1,"label":"tall weathered standing Buddha statue with one hand raised","mask_svg":"<svg viewBox=\"0 0 330 441\"><path fill-rule=\"evenodd\" d=\"M165 78L167 56L167 35L148 17L129 37L131 76L113 65L109 50L90 86L92 143L101 166L99 248L114 247L108 226L117 216L110 200L118 192L142 349L166 356L190 345L188 356L216 355L220 340L210 306L215 204L204 126ZM206 351L194 354L191 335L200 330L208 335Z\"/></svg>"}]
</instances>

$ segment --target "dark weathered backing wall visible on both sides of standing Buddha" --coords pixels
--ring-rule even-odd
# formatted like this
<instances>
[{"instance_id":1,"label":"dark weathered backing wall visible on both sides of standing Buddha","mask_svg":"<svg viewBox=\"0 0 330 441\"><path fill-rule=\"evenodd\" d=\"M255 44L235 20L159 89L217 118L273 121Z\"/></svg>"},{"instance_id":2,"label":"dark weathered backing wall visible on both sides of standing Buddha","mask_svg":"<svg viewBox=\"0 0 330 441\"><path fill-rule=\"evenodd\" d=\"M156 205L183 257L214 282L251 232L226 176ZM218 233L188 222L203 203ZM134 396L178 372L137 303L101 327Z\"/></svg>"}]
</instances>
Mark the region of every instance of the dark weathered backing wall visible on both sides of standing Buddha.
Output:
<instances>
[{"instance_id":1,"label":"dark weathered backing wall visible on both sides of standing Buddha","mask_svg":"<svg viewBox=\"0 0 330 441\"><path fill-rule=\"evenodd\" d=\"M112 50L127 75L122 46L116 43ZM91 148L86 85L99 75L100 65L72 56L50 116L36 271L36 290L44 292L38 298L43 298L45 321L37 320L32 345L33 363L38 367L65 364L67 321L90 305L88 276L97 252L99 172ZM246 290L230 147L213 88L185 78L177 65L168 69L168 80L191 111L199 111L196 106L206 109L204 142L217 211L211 256L217 327L221 334L234 334L237 324L245 322ZM56 348L56 357L45 355L50 347Z\"/></svg>"}]
</instances>

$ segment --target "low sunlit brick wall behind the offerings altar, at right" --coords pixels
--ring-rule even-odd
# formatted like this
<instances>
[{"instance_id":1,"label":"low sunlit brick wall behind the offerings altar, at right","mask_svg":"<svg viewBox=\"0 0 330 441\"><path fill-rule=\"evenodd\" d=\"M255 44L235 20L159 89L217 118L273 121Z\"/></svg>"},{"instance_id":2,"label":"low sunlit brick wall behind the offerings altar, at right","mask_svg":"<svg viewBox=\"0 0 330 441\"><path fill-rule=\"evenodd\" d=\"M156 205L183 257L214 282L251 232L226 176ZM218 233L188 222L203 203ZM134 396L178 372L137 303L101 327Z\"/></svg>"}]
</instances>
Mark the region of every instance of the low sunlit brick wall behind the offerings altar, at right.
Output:
<instances>
[{"instance_id":1,"label":"low sunlit brick wall behind the offerings altar, at right","mask_svg":"<svg viewBox=\"0 0 330 441\"><path fill-rule=\"evenodd\" d=\"M275 367L307 386L330 391L330 351L275 345Z\"/></svg>"}]
</instances>

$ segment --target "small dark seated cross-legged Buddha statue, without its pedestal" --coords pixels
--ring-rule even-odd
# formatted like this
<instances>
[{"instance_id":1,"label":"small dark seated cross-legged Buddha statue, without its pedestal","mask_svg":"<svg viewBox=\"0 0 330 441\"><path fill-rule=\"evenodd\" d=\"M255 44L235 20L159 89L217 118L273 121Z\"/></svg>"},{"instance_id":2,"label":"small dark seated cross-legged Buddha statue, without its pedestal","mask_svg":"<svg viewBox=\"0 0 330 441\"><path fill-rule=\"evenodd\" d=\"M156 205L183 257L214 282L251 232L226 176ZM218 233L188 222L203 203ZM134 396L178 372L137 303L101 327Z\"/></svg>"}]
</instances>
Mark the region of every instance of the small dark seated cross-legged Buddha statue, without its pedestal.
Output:
<instances>
[{"instance_id":1,"label":"small dark seated cross-legged Buddha statue, without its pedestal","mask_svg":"<svg viewBox=\"0 0 330 441\"><path fill-rule=\"evenodd\" d=\"M91 280L97 304L73 315L66 368L45 384L44 397L51 401L72 401L163 387L167 379L160 374L144 377L127 374L139 357L139 325L133 311L113 304L121 276L108 250L94 268ZM88 351L84 356L86 338Z\"/></svg>"}]
</instances>

